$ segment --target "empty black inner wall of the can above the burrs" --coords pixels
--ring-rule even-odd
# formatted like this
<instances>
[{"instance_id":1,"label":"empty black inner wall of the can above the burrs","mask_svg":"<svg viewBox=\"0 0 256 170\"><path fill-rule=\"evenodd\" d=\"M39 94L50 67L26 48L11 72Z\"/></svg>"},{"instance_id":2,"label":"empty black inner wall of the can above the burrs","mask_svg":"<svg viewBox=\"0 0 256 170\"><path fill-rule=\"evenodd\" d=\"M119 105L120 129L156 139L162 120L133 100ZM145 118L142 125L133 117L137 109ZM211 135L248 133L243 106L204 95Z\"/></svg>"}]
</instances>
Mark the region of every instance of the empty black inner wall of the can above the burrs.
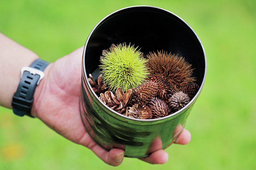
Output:
<instances>
[{"instance_id":1,"label":"empty black inner wall of the can above the burrs","mask_svg":"<svg viewBox=\"0 0 256 170\"><path fill-rule=\"evenodd\" d=\"M193 77L201 86L206 63L203 46L181 18L155 7L131 7L119 10L102 20L92 31L84 51L86 75L97 78L100 74L99 59L102 50L112 43L139 46L144 55L149 52L167 51L179 54L194 68Z\"/></svg>"}]
</instances>

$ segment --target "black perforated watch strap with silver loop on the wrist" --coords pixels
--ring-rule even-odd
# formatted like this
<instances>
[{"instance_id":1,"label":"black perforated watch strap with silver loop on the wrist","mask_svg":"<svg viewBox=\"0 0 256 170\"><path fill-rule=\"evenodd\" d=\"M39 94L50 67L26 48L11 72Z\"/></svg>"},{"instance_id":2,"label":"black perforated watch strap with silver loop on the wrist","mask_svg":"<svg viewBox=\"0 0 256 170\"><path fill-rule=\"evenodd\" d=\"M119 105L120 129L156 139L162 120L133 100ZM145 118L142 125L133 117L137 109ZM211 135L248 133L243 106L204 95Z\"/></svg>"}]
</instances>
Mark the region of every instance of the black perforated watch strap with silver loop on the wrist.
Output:
<instances>
[{"instance_id":1,"label":"black perforated watch strap with silver loop on the wrist","mask_svg":"<svg viewBox=\"0 0 256 170\"><path fill-rule=\"evenodd\" d=\"M21 68L21 80L18 89L12 98L13 112L18 116L25 114L31 116L31 108L33 96L36 86L44 77L44 69L49 63L47 61L37 59L29 67Z\"/></svg>"}]
</instances>

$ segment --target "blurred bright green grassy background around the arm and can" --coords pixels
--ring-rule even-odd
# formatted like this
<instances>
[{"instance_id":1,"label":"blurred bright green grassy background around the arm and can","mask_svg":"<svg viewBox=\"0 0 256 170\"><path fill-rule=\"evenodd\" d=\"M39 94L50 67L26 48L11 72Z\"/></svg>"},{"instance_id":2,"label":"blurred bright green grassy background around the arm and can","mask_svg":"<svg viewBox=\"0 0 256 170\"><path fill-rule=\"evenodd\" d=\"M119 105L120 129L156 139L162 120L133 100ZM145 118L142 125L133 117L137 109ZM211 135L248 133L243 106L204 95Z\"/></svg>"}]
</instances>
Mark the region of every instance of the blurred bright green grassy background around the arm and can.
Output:
<instances>
[{"instance_id":1,"label":"blurred bright green grassy background around the arm and can","mask_svg":"<svg viewBox=\"0 0 256 170\"><path fill-rule=\"evenodd\" d=\"M0 0L0 32L53 62L84 46L106 15L132 5L177 14L205 47L206 81L185 127L191 142L167 148L164 165L124 158L112 167L40 120L0 107L0 170L256 169L255 0Z\"/></svg>"}]
</instances>

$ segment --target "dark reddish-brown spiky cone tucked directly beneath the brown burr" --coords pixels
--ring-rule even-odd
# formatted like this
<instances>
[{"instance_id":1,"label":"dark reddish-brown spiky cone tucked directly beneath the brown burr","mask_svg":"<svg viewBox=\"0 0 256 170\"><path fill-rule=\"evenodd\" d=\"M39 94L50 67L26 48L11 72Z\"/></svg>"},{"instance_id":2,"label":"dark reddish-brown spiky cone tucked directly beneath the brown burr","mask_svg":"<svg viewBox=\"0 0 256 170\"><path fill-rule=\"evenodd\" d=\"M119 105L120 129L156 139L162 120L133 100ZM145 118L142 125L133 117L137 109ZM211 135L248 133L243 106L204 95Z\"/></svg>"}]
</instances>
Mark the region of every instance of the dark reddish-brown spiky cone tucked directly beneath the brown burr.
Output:
<instances>
[{"instance_id":1,"label":"dark reddish-brown spiky cone tucked directly beneath the brown burr","mask_svg":"<svg viewBox=\"0 0 256 170\"><path fill-rule=\"evenodd\" d=\"M153 76L150 78L150 80L157 83L157 97L167 102L168 99L173 95L173 90L170 83L162 76Z\"/></svg>"}]
</instances>

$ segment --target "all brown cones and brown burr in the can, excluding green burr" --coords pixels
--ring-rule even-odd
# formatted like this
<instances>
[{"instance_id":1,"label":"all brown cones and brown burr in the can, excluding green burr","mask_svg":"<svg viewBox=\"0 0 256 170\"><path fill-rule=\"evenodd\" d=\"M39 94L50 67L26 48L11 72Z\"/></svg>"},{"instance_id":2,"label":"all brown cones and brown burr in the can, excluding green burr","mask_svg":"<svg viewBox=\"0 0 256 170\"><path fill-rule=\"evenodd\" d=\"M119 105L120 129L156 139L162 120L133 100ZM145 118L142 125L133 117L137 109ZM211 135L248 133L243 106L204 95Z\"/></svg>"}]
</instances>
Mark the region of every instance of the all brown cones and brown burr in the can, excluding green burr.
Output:
<instances>
[{"instance_id":1,"label":"all brown cones and brown burr in the can, excluding green burr","mask_svg":"<svg viewBox=\"0 0 256 170\"><path fill-rule=\"evenodd\" d=\"M119 87L116 94L89 74L89 82L99 99L112 110L137 119L155 119L182 109L198 92L192 77L191 64L178 55L164 51L146 55L149 78L125 93Z\"/></svg>"}]
</instances>

